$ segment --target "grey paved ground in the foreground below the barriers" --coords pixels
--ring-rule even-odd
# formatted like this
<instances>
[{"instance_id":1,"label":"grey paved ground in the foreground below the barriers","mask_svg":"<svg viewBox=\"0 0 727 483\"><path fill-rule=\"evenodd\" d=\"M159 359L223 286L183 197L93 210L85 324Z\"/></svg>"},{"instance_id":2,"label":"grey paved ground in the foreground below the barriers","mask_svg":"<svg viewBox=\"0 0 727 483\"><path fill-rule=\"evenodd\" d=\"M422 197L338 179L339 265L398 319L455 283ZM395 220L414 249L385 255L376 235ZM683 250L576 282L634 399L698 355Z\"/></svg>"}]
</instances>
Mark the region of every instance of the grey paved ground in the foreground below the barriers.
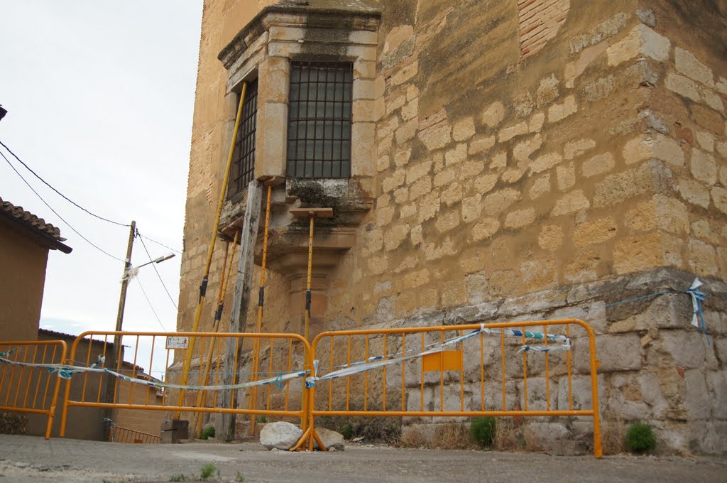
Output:
<instances>
[{"instance_id":1,"label":"grey paved ground in the foreground below the barriers","mask_svg":"<svg viewBox=\"0 0 727 483\"><path fill-rule=\"evenodd\" d=\"M121 444L0 434L0 482L196 481L209 463L216 469L207 481L220 482L727 482L727 458L596 460L371 445L311 454L270 452L257 443Z\"/></svg>"}]
</instances>

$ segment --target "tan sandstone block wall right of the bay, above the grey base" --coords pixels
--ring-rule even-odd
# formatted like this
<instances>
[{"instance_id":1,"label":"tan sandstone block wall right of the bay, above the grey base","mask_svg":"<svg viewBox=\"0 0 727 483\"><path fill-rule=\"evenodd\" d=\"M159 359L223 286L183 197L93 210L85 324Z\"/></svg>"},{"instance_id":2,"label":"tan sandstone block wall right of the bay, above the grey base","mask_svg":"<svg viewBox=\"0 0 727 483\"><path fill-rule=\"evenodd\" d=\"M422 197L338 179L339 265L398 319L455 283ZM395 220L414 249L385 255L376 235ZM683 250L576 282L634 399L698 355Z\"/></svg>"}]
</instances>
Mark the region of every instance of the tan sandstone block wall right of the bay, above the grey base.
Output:
<instances>
[{"instance_id":1,"label":"tan sandstone block wall right of the bay, above the grey base","mask_svg":"<svg viewBox=\"0 0 727 483\"><path fill-rule=\"evenodd\" d=\"M355 302L364 320L380 321L658 266L724 273L718 76L701 64L715 88L702 84L703 105L691 106L710 111L709 129L699 126L707 148L714 144L709 151L678 135L695 128L684 108L693 100L664 100L672 97L677 58L686 62L677 55L683 49L642 23L635 8L601 8L603 20L585 31L566 20L542 53L554 51L558 61L520 61L507 41L491 47L512 64L502 62L492 81L443 89L452 97L441 106L422 93L432 74L412 73L419 57L432 62L438 54L427 44L437 28L445 29L441 36L467 36L457 9L443 9L421 33L415 25L409 39L401 39L401 27L381 33L379 194L359 231L361 251L332 275L353 274L356 286L332 291L340 304L331 304L331 319ZM578 13L571 6L569 15ZM413 43L411 55L384 68L390 55L400 57L396 41ZM411 78L400 83L404 70Z\"/></svg>"}]
</instances>

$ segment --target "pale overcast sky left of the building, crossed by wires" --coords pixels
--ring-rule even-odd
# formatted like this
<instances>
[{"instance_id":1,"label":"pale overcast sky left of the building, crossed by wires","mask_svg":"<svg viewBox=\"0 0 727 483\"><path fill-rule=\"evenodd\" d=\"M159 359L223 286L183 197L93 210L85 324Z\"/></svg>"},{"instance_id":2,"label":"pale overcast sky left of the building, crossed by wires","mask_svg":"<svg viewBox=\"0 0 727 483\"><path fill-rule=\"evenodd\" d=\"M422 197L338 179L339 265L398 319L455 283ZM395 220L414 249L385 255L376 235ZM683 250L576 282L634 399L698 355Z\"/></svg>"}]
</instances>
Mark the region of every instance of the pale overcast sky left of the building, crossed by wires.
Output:
<instances>
[{"instance_id":1,"label":"pale overcast sky left of the building, crossed by wires","mask_svg":"<svg viewBox=\"0 0 727 483\"><path fill-rule=\"evenodd\" d=\"M0 140L83 207L182 249L202 0L0 0ZM0 147L73 228L123 259L129 228L73 207ZM41 327L113 330L123 270L54 215L0 158L0 197L60 228ZM147 241L153 258L169 252ZM156 265L174 303L180 255ZM148 261L139 239L132 264ZM0 268L1 271L1 268ZM177 310L152 266L129 285L125 330L172 331Z\"/></svg>"}]
</instances>

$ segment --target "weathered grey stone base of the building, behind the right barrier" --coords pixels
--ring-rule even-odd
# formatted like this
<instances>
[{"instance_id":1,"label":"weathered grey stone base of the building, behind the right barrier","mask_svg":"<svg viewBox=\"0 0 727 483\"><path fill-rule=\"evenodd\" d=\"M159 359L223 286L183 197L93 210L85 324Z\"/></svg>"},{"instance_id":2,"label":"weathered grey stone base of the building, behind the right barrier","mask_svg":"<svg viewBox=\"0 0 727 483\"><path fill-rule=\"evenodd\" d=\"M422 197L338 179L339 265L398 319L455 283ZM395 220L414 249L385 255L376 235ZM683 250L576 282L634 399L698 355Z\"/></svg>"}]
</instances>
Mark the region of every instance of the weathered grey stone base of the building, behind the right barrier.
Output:
<instances>
[{"instance_id":1,"label":"weathered grey stone base of the building, behind the right barrier","mask_svg":"<svg viewBox=\"0 0 727 483\"><path fill-rule=\"evenodd\" d=\"M704 335L691 326L690 296L679 292L691 284L693 276L686 271L660 268L465 305L445 313L407 317L369 328L426 327L483 320L582 319L595 332L599 405L607 452L614 450L614 443L620 443L628 425L648 421L654 426L662 452L723 454L727 450L722 409L727 403L727 321L724 315L727 284L716 279L707 282L704 317L709 334ZM667 291L672 292L644 297ZM529 330L542 332L541 327ZM563 334L564 330L564 327L550 327L548 333ZM447 337L455 335L451 332ZM528 353L527 388L523 378L523 357L517 353L522 342L518 338L506 339L505 406L502 404L502 351L497 336L486 336L482 355L478 340L465 342L464 378L460 383L459 370L444 372L443 398L439 372L425 372L422 383L421 362L406 362L404 407L409 411L437 411L442 407L459 410L463 404L465 410L480 410L484 401L486 410L502 410L503 407L507 410L526 407L545 410L547 396L550 396L551 410L569 410L572 396L574 409L590 409L593 399L588 339L578 327L571 327L571 338L574 345L571 379L565 353L550 353L547 370L544 354ZM427 338L426 343L437 341L438 336ZM328 343L324 340L318 346L316 356L321 367L330 365ZM419 336L407 337L407 354L419 351L419 344ZM368 341L368 352L364 351L362 338L353 340L352 346L352 361L384 354L380 337ZM398 354L401 349L401 338L388 339L386 354ZM337 340L333 360L334 365L346 364L345 338ZM485 375L483 387L481 372ZM365 401L369 410L391 411L401 407L401 366L389 366L386 372L373 370L367 373L366 379L364 375L354 375L350 380L334 380L332 384L331 393L327 382L318 385L318 409L327 409L332 395L332 409L341 410L346 407L348 394L349 407L362 410L364 386L369 394ZM384 387L387 390L386 408L382 401ZM402 430L404 433L411 428L421 431L424 423L461 419L403 418ZM592 443L590 418L524 418L523 423L531 448L546 450L561 439Z\"/></svg>"}]
</instances>

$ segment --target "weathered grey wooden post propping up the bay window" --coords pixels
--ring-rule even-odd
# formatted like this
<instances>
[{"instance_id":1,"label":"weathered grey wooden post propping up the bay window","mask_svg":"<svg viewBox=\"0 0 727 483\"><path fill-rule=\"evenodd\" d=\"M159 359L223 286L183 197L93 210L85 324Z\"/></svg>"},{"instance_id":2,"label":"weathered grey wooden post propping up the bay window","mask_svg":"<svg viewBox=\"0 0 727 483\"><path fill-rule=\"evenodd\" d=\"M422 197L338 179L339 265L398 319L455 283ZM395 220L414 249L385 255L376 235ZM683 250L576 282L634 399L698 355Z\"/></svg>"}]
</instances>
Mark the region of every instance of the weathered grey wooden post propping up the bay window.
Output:
<instances>
[{"instance_id":1,"label":"weathered grey wooden post propping up the bay window","mask_svg":"<svg viewBox=\"0 0 727 483\"><path fill-rule=\"evenodd\" d=\"M245 218L241 233L241 250L238 258L237 280L233 296L232 319L230 332L244 332L247 319L247 309L250 306L250 292L252 291L252 273L255 261L255 241L257 241L257 228L260 225L260 203L262 201L262 184L252 180L247 185L247 204ZM225 377L223 384L236 384L238 382L236 364L240 361L241 339L228 340L225 354ZM222 392L222 407L236 407L237 391L226 390ZM230 441L235 438L236 418L234 414L222 414L222 431L220 438Z\"/></svg>"}]
</instances>

